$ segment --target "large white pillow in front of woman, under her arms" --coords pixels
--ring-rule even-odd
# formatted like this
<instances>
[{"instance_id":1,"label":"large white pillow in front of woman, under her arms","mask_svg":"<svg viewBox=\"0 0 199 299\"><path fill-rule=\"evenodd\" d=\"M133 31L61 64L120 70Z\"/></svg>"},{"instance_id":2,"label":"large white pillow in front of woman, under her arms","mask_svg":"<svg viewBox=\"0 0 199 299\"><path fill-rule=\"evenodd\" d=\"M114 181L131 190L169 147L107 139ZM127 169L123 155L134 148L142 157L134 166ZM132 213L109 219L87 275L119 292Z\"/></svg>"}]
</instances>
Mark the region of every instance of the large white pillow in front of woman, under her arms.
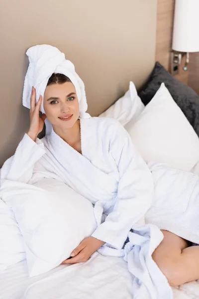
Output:
<instances>
[{"instance_id":1,"label":"large white pillow in front of woman, under her arms","mask_svg":"<svg viewBox=\"0 0 199 299\"><path fill-rule=\"evenodd\" d=\"M92 203L55 179L3 180L0 196L15 213L30 277L60 265L97 227Z\"/></svg>"}]
</instances>

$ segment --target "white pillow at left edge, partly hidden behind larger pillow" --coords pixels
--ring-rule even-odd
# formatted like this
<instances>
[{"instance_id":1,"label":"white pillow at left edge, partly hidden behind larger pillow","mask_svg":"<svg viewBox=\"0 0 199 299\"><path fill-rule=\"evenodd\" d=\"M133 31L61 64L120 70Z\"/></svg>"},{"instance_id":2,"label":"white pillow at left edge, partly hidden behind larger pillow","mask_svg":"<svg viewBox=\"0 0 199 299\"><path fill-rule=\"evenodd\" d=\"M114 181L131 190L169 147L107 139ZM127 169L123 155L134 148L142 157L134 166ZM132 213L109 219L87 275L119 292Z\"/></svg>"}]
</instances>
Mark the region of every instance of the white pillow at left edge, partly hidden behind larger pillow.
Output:
<instances>
[{"instance_id":1,"label":"white pillow at left edge, partly hidden behind larger pillow","mask_svg":"<svg viewBox=\"0 0 199 299\"><path fill-rule=\"evenodd\" d=\"M0 273L25 258L23 237L14 213L0 199Z\"/></svg>"}]
</instances>

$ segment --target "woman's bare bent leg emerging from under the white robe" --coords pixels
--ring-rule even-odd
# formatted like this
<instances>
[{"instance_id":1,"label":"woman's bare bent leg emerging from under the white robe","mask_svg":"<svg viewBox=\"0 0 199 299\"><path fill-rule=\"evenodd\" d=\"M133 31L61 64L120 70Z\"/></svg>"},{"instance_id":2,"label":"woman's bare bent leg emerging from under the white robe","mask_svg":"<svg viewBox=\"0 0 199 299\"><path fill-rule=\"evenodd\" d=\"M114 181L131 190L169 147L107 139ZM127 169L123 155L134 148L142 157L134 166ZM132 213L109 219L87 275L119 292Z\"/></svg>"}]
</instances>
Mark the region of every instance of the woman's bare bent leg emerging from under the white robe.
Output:
<instances>
[{"instance_id":1,"label":"woman's bare bent leg emerging from under the white robe","mask_svg":"<svg viewBox=\"0 0 199 299\"><path fill-rule=\"evenodd\" d=\"M199 279L199 246L162 230L164 239L154 251L152 258L168 279L171 286Z\"/></svg>"}]
</instances>

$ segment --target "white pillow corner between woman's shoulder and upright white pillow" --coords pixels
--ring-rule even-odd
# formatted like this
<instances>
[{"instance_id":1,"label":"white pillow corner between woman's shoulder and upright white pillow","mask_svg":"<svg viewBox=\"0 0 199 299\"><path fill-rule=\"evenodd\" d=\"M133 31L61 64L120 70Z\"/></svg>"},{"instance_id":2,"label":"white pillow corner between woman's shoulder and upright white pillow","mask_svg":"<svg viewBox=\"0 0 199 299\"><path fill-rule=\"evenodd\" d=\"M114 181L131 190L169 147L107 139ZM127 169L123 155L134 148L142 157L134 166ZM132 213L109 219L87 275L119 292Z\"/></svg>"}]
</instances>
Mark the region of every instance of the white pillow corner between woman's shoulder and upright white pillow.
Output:
<instances>
[{"instance_id":1,"label":"white pillow corner between woman's shoulder and upright white pillow","mask_svg":"<svg viewBox=\"0 0 199 299\"><path fill-rule=\"evenodd\" d=\"M108 117L116 119L122 126L125 126L130 120L136 119L144 110L144 104L137 95L133 82L129 82L129 90L125 95L117 100L99 117Z\"/></svg>"}]
</instances>

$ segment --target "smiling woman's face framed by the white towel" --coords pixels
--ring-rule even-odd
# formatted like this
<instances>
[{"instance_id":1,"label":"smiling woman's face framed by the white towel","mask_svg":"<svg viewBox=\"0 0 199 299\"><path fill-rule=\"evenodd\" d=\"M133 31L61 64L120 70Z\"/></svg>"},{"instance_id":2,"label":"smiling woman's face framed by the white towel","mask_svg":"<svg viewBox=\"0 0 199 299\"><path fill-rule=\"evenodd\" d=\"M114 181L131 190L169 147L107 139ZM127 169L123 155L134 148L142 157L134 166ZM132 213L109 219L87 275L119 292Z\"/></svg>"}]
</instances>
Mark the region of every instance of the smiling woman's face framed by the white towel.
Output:
<instances>
[{"instance_id":1,"label":"smiling woman's face framed by the white towel","mask_svg":"<svg viewBox=\"0 0 199 299\"><path fill-rule=\"evenodd\" d=\"M71 82L48 85L43 105L46 117L53 127L72 128L80 115L76 89Z\"/></svg>"}]
</instances>

